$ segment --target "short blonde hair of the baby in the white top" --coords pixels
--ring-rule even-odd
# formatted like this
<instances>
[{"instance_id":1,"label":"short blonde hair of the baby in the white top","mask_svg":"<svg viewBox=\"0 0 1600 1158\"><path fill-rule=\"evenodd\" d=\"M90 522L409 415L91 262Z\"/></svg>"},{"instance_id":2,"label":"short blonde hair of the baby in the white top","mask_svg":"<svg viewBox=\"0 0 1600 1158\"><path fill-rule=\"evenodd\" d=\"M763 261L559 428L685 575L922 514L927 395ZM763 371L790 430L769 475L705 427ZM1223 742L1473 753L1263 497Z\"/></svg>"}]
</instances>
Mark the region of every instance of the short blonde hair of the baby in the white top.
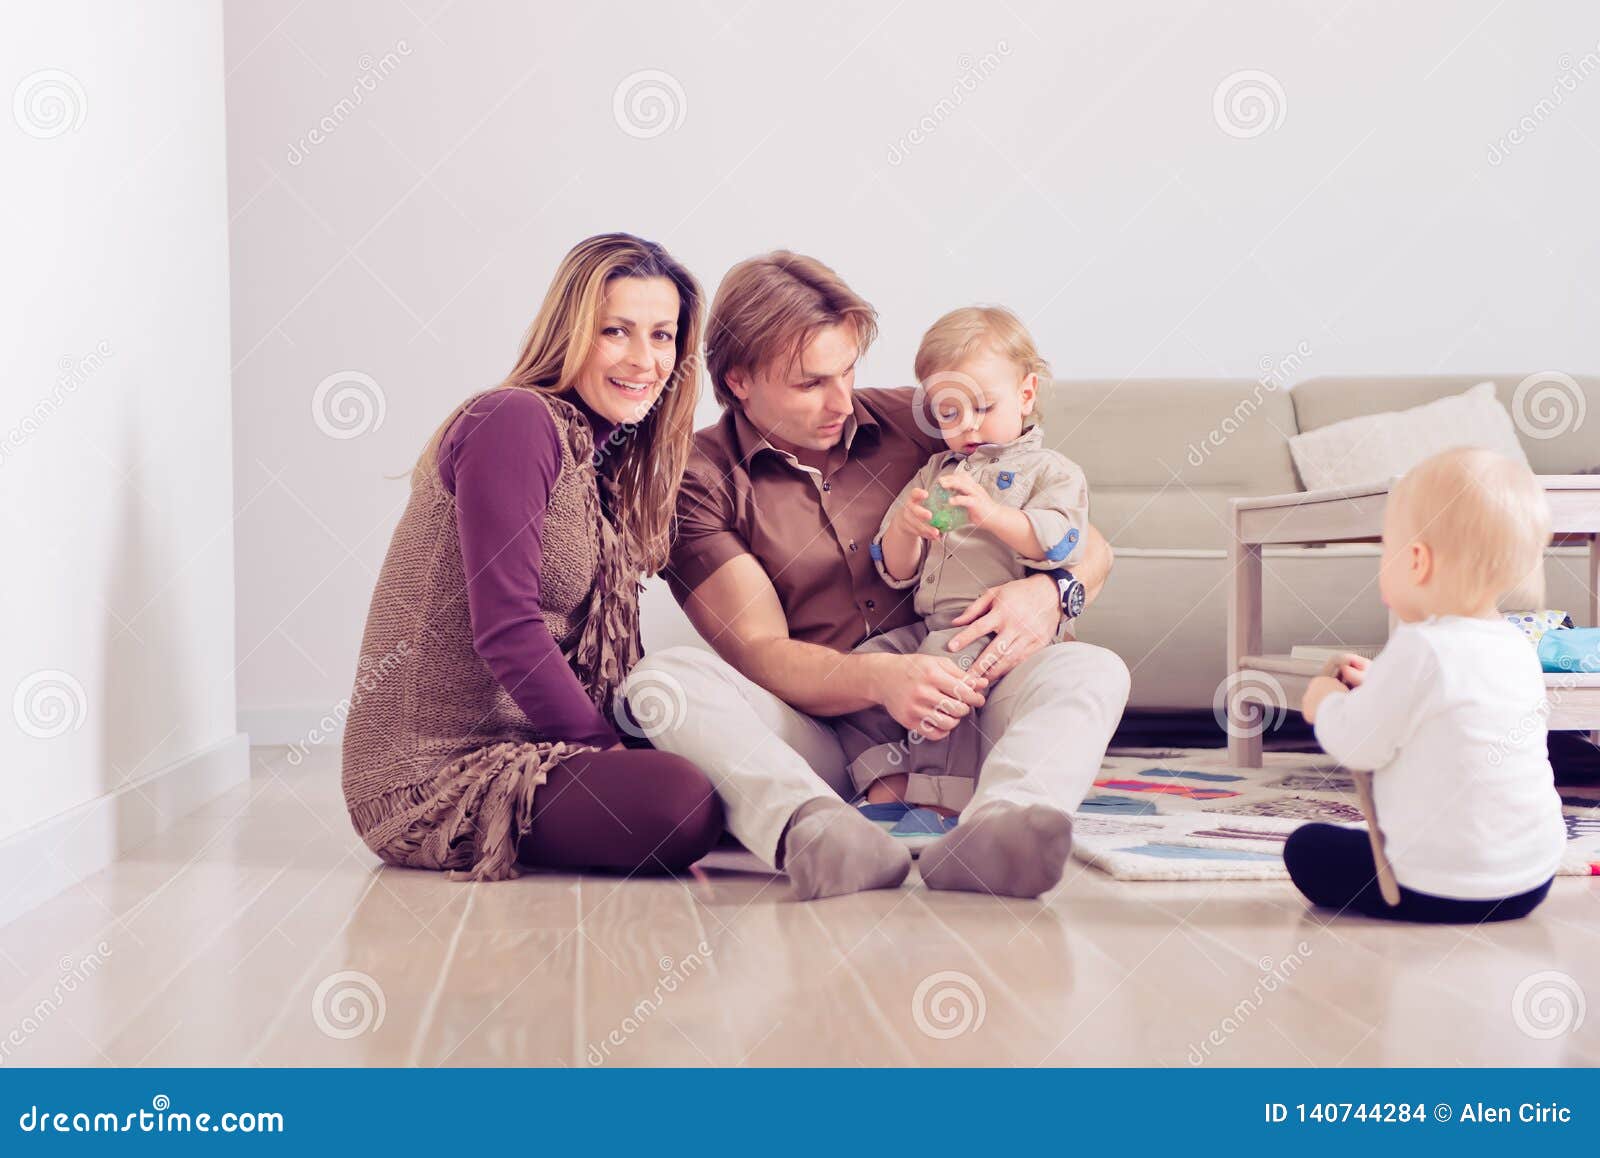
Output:
<instances>
[{"instance_id":1,"label":"short blonde hair of the baby in the white top","mask_svg":"<svg viewBox=\"0 0 1600 1158\"><path fill-rule=\"evenodd\" d=\"M1485 598L1507 611L1544 606L1550 504L1522 462L1462 446L1406 472L1389 501L1411 539L1434 552L1442 593L1456 606Z\"/></svg>"}]
</instances>

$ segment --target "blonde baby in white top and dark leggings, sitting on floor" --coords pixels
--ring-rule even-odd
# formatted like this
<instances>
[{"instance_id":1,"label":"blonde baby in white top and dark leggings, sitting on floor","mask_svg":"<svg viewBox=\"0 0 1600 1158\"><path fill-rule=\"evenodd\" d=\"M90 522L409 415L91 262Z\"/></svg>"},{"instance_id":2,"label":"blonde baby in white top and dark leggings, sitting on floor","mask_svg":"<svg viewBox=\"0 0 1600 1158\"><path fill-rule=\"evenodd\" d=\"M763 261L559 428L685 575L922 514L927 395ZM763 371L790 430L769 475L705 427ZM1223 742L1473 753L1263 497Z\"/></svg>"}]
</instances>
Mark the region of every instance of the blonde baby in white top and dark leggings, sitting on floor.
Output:
<instances>
[{"instance_id":1,"label":"blonde baby in white top and dark leggings, sitting on floor","mask_svg":"<svg viewBox=\"0 0 1600 1158\"><path fill-rule=\"evenodd\" d=\"M1566 846L1544 675L1496 601L1542 595L1549 542L1544 489L1501 454L1445 451L1390 489L1379 587L1402 622L1371 662L1342 656L1312 680L1301 710L1328 755L1373 771L1402 899L1379 894L1366 832L1307 824L1283 859L1312 904L1477 923L1544 900Z\"/></svg>"}]
</instances>

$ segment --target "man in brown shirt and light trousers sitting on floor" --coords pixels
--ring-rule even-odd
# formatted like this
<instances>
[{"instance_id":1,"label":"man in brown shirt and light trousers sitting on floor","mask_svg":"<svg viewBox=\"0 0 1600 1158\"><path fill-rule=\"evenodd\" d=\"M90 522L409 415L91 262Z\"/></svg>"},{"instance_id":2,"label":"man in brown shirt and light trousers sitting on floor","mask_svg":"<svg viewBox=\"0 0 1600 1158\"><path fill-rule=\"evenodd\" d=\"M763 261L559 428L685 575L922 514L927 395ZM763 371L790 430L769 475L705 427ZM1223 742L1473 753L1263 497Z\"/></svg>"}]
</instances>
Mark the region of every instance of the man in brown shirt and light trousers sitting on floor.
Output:
<instances>
[{"instance_id":1,"label":"man in brown shirt and light trousers sitting on floor","mask_svg":"<svg viewBox=\"0 0 1600 1158\"><path fill-rule=\"evenodd\" d=\"M648 729L717 784L728 829L789 873L802 899L894 888L904 846L842 797L850 776L830 718L882 705L942 739L974 713L978 789L960 825L922 856L930 888L1034 897L1053 888L1082 803L1128 701L1128 669L1072 640L1074 576L994 587L955 622L947 657L850 654L917 621L910 590L877 574L869 545L901 488L944 443L912 389L854 389L877 313L834 270L778 251L723 278L707 323L707 371L723 417L694 435L666 577L715 648L669 648L624 694ZM1075 579L1090 597L1110 547L1085 534ZM1000 680L1000 677L1005 677ZM994 688L990 694L986 689Z\"/></svg>"}]
</instances>

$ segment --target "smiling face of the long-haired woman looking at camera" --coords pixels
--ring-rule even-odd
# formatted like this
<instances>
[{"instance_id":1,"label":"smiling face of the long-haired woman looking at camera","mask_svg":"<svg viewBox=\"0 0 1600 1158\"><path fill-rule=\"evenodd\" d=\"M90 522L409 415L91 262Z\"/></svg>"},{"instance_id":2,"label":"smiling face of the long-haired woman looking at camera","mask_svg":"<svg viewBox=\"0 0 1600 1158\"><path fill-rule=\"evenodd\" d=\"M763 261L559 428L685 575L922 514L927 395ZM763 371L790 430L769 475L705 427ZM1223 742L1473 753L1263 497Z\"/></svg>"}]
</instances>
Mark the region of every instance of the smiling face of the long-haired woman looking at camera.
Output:
<instances>
[{"instance_id":1,"label":"smiling face of the long-haired woman looking at camera","mask_svg":"<svg viewBox=\"0 0 1600 1158\"><path fill-rule=\"evenodd\" d=\"M602 417L638 422L678 358L678 290L664 277L619 277L605 288L574 389Z\"/></svg>"}]
</instances>

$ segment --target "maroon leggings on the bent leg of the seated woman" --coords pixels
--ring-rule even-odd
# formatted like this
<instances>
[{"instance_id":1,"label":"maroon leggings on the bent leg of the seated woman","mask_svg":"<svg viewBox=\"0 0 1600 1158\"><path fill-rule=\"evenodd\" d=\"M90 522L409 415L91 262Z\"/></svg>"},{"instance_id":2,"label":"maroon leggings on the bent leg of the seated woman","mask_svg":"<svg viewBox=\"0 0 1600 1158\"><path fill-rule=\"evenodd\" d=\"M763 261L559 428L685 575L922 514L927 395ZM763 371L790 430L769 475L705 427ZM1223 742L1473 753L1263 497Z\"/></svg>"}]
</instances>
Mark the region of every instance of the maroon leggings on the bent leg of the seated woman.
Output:
<instances>
[{"instance_id":1,"label":"maroon leggings on the bent leg of the seated woman","mask_svg":"<svg viewBox=\"0 0 1600 1158\"><path fill-rule=\"evenodd\" d=\"M517 859L538 868L675 873L722 835L722 801L699 768L654 749L579 752L533 793Z\"/></svg>"}]
</instances>

